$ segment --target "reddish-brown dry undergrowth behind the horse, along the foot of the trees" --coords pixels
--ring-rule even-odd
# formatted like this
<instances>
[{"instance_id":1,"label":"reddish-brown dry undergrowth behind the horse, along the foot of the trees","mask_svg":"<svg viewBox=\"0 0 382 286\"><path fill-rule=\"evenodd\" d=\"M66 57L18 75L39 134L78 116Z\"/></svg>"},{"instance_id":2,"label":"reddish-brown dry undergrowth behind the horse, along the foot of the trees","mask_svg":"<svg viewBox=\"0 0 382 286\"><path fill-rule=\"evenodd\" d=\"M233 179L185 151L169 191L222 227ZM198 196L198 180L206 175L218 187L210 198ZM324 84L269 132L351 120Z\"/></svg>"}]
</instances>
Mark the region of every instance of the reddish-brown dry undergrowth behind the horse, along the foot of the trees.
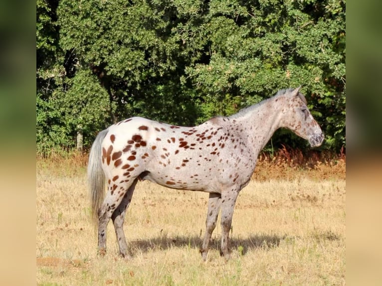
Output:
<instances>
[{"instance_id":1,"label":"reddish-brown dry undergrowth behind the horse, along the foot of the trees","mask_svg":"<svg viewBox=\"0 0 382 286\"><path fill-rule=\"evenodd\" d=\"M88 154L80 152L54 153L47 158L37 157L37 169L53 167L53 172L74 174L78 169L86 168ZM285 146L272 156L269 153L259 155L252 179L266 181L270 179L293 180L298 177L323 180L346 178L346 155L330 152L309 151L304 154L299 149L287 149Z\"/></svg>"}]
</instances>

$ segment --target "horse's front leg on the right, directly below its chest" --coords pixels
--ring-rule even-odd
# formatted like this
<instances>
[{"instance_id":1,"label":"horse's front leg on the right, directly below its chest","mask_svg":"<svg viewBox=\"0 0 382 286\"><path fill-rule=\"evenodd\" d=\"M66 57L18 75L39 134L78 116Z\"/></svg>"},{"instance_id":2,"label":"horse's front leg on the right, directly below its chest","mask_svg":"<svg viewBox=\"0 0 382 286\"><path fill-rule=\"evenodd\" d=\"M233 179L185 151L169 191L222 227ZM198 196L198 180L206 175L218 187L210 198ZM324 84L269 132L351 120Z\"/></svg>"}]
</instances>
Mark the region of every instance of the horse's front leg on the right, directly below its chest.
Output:
<instances>
[{"instance_id":1,"label":"horse's front leg on the right, directly below its chest","mask_svg":"<svg viewBox=\"0 0 382 286\"><path fill-rule=\"evenodd\" d=\"M237 189L224 191L221 194L221 248L220 256L224 256L226 260L230 257L229 249L229 230L231 229L233 209L238 195Z\"/></svg>"}]
</instances>

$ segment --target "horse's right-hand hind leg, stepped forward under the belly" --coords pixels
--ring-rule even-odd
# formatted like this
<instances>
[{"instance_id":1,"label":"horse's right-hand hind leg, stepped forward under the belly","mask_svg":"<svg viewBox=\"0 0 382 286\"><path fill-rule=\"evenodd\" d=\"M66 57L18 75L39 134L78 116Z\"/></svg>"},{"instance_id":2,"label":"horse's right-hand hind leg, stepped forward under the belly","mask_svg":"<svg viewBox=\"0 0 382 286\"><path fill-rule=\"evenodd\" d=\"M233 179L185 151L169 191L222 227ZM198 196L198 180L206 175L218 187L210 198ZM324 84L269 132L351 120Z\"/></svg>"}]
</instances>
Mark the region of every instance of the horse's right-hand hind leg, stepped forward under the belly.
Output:
<instances>
[{"instance_id":1,"label":"horse's right-hand hind leg, stepped forward under the belly","mask_svg":"<svg viewBox=\"0 0 382 286\"><path fill-rule=\"evenodd\" d=\"M126 210L130 205L131 198L133 197L135 186L138 182L138 179L135 179L132 185L129 187L127 192L125 193L121 203L113 212L111 219L114 224L115 235L117 237L118 246L119 246L119 254L122 257L130 258L130 255L127 252L127 243L125 232L123 231L123 222L125 220Z\"/></svg>"}]
</instances>

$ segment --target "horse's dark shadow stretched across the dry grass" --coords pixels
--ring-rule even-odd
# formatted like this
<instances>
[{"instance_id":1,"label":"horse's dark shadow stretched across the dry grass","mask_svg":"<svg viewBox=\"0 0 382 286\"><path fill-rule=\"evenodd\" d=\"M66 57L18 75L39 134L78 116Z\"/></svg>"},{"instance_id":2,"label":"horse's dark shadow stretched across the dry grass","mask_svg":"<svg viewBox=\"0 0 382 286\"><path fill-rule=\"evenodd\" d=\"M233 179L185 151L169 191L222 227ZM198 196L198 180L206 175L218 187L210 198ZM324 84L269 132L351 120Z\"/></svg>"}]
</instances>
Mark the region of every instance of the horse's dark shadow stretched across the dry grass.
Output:
<instances>
[{"instance_id":1,"label":"horse's dark shadow stretched across the dry grass","mask_svg":"<svg viewBox=\"0 0 382 286\"><path fill-rule=\"evenodd\" d=\"M231 238L229 240L231 250L239 250L241 255L245 255L251 249L271 249L280 245L280 241L285 239L286 235L251 235L244 239ZM171 248L197 248L199 249L202 243L200 236L177 236L167 237L166 235L159 235L152 239L136 240L130 242L130 252L134 255L136 253L147 253L151 251L161 251ZM209 249L220 251L220 236L212 238L209 242Z\"/></svg>"}]
</instances>

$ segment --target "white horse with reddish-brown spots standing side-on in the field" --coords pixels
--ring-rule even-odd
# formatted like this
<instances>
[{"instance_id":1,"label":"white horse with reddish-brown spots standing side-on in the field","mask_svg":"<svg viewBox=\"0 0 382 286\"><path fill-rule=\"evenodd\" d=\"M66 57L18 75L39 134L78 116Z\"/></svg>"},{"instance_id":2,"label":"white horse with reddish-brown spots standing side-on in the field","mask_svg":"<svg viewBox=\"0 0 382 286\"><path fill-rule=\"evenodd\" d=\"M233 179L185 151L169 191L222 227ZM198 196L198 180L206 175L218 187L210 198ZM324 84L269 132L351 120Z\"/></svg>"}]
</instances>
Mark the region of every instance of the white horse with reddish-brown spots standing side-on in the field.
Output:
<instances>
[{"instance_id":1,"label":"white horse with reddish-brown spots standing side-on in the field","mask_svg":"<svg viewBox=\"0 0 382 286\"><path fill-rule=\"evenodd\" d=\"M101 131L88 163L98 253L106 253L106 227L111 218L119 253L129 256L123 222L134 188L142 179L169 188L209 193L200 253L205 261L221 209L220 255L228 259L228 234L237 195L248 184L257 156L273 133L278 128L290 129L313 147L324 140L299 90L280 90L234 115L213 117L194 127L133 117Z\"/></svg>"}]
</instances>

